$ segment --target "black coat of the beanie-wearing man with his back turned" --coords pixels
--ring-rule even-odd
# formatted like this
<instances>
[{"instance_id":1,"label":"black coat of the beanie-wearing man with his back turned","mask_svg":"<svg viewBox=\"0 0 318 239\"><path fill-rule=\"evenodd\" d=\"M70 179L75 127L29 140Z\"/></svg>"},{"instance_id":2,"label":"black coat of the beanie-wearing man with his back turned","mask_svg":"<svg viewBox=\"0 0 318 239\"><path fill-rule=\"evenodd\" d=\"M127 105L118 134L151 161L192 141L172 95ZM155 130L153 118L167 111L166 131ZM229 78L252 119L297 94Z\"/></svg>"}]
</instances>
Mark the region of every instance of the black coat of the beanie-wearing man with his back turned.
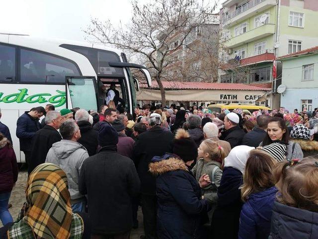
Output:
<instances>
[{"instance_id":1,"label":"black coat of the beanie-wearing man with his back turned","mask_svg":"<svg viewBox=\"0 0 318 239\"><path fill-rule=\"evenodd\" d=\"M140 181L134 162L102 148L86 158L79 173L79 192L87 195L92 233L121 234L133 226L131 198Z\"/></svg>"}]
</instances>

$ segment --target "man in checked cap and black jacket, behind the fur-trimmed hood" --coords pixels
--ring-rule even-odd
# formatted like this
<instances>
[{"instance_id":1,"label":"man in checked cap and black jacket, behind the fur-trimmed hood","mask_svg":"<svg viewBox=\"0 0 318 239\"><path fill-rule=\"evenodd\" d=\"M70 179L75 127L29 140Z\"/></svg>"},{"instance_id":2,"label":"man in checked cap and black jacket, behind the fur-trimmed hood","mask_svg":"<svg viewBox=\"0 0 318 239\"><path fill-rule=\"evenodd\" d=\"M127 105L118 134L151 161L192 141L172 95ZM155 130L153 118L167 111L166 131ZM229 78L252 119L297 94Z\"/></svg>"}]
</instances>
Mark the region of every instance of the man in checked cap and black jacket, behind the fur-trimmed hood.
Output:
<instances>
[{"instance_id":1,"label":"man in checked cap and black jacket, behind the fur-trimmed hood","mask_svg":"<svg viewBox=\"0 0 318 239\"><path fill-rule=\"evenodd\" d=\"M157 197L156 178L149 172L149 163L154 156L172 152L173 135L161 128L159 114L149 118L150 129L140 135L134 148L134 161L141 182L141 203L144 215L146 239L157 238Z\"/></svg>"}]
</instances>

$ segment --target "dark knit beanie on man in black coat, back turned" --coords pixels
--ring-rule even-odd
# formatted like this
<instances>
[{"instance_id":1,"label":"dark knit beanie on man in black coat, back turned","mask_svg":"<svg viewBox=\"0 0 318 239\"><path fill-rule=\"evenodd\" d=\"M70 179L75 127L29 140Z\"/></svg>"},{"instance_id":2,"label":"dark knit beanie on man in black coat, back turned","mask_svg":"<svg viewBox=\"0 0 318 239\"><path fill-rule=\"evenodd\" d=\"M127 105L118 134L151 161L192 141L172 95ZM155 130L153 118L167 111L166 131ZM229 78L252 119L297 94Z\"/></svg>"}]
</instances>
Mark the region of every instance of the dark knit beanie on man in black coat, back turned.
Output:
<instances>
[{"instance_id":1,"label":"dark knit beanie on man in black coat, back turned","mask_svg":"<svg viewBox=\"0 0 318 239\"><path fill-rule=\"evenodd\" d=\"M103 122L98 131L98 144L101 147L116 146L118 143L118 133L110 124Z\"/></svg>"}]
</instances>

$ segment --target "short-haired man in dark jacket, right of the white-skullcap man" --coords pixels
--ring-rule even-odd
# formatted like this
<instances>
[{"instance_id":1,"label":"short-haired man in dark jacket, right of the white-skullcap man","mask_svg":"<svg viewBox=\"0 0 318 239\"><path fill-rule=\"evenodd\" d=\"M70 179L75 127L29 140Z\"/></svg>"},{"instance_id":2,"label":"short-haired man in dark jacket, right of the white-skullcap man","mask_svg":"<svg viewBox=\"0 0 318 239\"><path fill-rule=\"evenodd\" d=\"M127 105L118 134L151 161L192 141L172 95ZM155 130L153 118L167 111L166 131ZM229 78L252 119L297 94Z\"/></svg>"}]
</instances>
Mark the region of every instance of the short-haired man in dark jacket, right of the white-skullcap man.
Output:
<instances>
[{"instance_id":1,"label":"short-haired man in dark jacket, right of the white-skullcap man","mask_svg":"<svg viewBox=\"0 0 318 239\"><path fill-rule=\"evenodd\" d=\"M242 145L250 147L258 147L260 142L263 141L266 136L267 124L270 116L260 115L257 117L257 125L252 131L246 133L243 137Z\"/></svg>"}]
</instances>

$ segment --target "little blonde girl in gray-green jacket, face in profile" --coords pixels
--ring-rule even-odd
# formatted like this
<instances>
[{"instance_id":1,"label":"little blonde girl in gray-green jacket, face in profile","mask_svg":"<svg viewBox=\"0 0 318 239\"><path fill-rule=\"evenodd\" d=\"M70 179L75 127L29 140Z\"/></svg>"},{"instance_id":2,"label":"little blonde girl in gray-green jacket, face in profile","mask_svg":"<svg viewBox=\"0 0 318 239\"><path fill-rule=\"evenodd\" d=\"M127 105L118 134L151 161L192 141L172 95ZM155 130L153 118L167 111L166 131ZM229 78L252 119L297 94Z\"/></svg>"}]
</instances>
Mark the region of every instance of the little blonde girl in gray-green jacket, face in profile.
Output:
<instances>
[{"instance_id":1,"label":"little blonde girl in gray-green jacket, face in profile","mask_svg":"<svg viewBox=\"0 0 318 239\"><path fill-rule=\"evenodd\" d=\"M211 184L202 188L202 197L212 204L212 210L209 212L211 221L218 201L217 189L221 182L225 152L217 142L206 139L202 141L198 148L198 158L199 160L193 167L192 173L198 182L203 174L210 177Z\"/></svg>"}]
</instances>

